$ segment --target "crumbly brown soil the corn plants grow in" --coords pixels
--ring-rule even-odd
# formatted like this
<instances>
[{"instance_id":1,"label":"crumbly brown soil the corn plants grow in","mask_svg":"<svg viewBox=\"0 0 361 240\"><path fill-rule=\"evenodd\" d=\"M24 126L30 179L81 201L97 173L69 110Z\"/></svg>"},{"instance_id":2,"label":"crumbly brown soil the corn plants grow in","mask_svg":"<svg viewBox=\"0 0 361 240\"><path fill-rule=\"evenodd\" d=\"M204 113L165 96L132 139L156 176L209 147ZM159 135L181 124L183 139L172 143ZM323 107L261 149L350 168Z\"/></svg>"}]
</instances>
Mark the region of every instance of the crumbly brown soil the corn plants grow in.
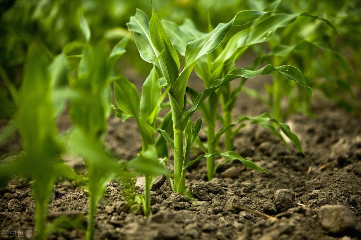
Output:
<instances>
[{"instance_id":1,"label":"crumbly brown soil the corn plants grow in","mask_svg":"<svg viewBox=\"0 0 361 240\"><path fill-rule=\"evenodd\" d=\"M140 89L139 79L131 78ZM201 89L199 80L193 82L196 81L193 85ZM247 84L262 91L265 82L269 78L257 78ZM234 118L265 111L257 100L241 95ZM160 177L151 192L152 214L148 218L133 200L134 193L142 193L141 179L137 184L125 180L109 182L99 202L95 238L361 239L361 118L343 112L317 94L313 112L317 117L295 114L286 121L299 136L308 157L298 153L292 144L287 148L269 131L248 126L236 137L235 151L269 174L231 162L217 170L216 178L206 182L205 161L200 161L186 175L187 187L195 198L172 193L169 180ZM66 126L66 117L63 120ZM10 143L1 149L3 155L16 149L16 143ZM131 119L121 123L112 117L106 146L119 158L134 157L141 149L136 123ZM193 151L190 159L200 153ZM81 159L67 155L64 159L76 171L86 172ZM170 158L170 167L171 162ZM30 183L25 178L13 178L0 190L1 230L34 231ZM57 182L49 204L49 222L71 217L86 228L86 213L84 186ZM84 239L84 230L68 226L51 233L49 239Z\"/></svg>"}]
</instances>

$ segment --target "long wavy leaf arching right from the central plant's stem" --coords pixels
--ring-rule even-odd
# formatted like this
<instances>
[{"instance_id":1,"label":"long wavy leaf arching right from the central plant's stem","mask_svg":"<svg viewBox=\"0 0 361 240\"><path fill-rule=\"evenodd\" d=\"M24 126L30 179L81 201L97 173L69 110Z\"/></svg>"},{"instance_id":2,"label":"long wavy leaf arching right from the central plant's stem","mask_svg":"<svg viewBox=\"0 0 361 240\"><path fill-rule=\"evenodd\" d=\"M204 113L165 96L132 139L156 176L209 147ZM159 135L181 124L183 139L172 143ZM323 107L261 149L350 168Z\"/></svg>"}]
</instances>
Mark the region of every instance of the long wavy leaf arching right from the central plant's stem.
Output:
<instances>
[{"instance_id":1,"label":"long wavy leaf arching right from the central plant's stem","mask_svg":"<svg viewBox=\"0 0 361 240\"><path fill-rule=\"evenodd\" d=\"M175 128L178 130L183 130L186 126L188 117L191 117L193 115L195 110L198 108L199 104L203 102L212 92L216 91L219 87L225 85L227 82L235 80L236 78L239 77L254 78L259 74L269 75L272 72L279 72L287 79L291 81L297 81L298 83L300 83L301 86L304 86L306 88L306 91L308 92L310 98L313 101L312 89L305 83L305 80L302 77L302 73L300 72L300 70L295 67L292 67L290 65L283 65L275 68L272 65L268 64L265 67L258 69L256 71L251 71L244 68L236 68L232 72L227 74L225 78L221 78L214 81L209 88L203 90L203 92L201 92L197 96L197 98L193 101L192 107L189 110L187 110L187 112L183 114L183 117L177 122Z\"/></svg>"}]
</instances>

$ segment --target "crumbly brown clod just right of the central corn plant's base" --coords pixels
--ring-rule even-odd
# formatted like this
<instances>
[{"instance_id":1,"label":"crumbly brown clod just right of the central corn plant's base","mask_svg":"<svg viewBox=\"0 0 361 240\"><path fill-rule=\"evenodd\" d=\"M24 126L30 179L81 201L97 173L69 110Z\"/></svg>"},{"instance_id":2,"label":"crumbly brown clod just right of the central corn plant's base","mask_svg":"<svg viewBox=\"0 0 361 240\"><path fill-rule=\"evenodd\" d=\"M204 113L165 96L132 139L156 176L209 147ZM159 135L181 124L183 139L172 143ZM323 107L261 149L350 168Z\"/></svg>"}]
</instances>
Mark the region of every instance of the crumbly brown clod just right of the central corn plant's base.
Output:
<instances>
[{"instance_id":1,"label":"crumbly brown clod just right of the central corn plant's base","mask_svg":"<svg viewBox=\"0 0 361 240\"><path fill-rule=\"evenodd\" d=\"M192 186L191 190L194 196L204 201L212 200L217 194L224 194L222 186L214 182L201 182L195 184Z\"/></svg>"}]
</instances>

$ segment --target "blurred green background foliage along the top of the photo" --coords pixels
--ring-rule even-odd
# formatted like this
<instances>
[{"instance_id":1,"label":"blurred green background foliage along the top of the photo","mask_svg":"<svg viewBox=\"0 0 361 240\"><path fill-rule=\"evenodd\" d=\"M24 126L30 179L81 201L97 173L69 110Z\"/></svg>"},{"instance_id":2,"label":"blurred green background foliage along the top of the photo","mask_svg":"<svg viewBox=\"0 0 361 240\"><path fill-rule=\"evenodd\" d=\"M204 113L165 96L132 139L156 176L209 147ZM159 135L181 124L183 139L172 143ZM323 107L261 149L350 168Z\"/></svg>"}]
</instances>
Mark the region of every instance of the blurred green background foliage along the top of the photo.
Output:
<instances>
[{"instance_id":1,"label":"blurred green background foliage along the top of the photo","mask_svg":"<svg viewBox=\"0 0 361 240\"><path fill-rule=\"evenodd\" d=\"M261 55L274 46L293 45L301 39L325 42L330 49L345 56L353 72L340 70L337 60L330 54L320 54L317 48L309 48L278 61L295 64L304 72L311 87L321 90L327 98L335 100L336 104L349 111L358 109L357 103L352 102L352 99L357 100L357 96L352 98L351 94L349 100L344 98L344 94L348 96L353 86L361 85L360 0L153 0L153 3L160 18L178 24L185 18L191 18L197 28L204 32L208 28L208 16L213 26L216 26L219 22L228 22L231 16L240 10L262 10L270 3L279 4L279 13L308 11L329 19L341 35L335 34L320 21L299 18L292 28L278 31L267 45L251 47L250 51L253 51L255 56ZM70 42L83 41L78 21L79 9L90 25L91 41L105 39L110 49L127 35L126 22L134 15L136 8L144 10L148 17L151 16L149 0L1 0L1 79L8 78L16 87L20 86L23 63L33 41L42 42L50 57L61 53ZM239 28L234 31L239 31ZM140 59L135 44L128 44L122 65L132 65L142 75L151 69L151 64ZM122 71L121 68L119 71ZM323 78L323 81L316 81L319 78ZM3 81L0 100L0 118L8 119L14 112L14 106Z\"/></svg>"}]
</instances>

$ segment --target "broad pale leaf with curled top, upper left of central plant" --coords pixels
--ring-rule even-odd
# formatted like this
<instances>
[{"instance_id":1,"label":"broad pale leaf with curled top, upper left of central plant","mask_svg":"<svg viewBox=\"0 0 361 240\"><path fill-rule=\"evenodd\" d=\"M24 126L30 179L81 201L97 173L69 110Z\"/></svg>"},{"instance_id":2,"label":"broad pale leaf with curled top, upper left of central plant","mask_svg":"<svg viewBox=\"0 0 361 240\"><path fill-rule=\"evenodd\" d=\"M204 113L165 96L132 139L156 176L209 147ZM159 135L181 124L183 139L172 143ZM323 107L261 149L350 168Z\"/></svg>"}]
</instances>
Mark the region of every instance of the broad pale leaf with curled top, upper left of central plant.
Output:
<instances>
[{"instance_id":1,"label":"broad pale leaf with curled top, upper left of central plant","mask_svg":"<svg viewBox=\"0 0 361 240\"><path fill-rule=\"evenodd\" d=\"M134 41L142 59L148 63L155 63L159 53L153 46L149 35L147 15L137 8L135 15L130 17L127 26L129 31L133 31Z\"/></svg>"}]
</instances>

